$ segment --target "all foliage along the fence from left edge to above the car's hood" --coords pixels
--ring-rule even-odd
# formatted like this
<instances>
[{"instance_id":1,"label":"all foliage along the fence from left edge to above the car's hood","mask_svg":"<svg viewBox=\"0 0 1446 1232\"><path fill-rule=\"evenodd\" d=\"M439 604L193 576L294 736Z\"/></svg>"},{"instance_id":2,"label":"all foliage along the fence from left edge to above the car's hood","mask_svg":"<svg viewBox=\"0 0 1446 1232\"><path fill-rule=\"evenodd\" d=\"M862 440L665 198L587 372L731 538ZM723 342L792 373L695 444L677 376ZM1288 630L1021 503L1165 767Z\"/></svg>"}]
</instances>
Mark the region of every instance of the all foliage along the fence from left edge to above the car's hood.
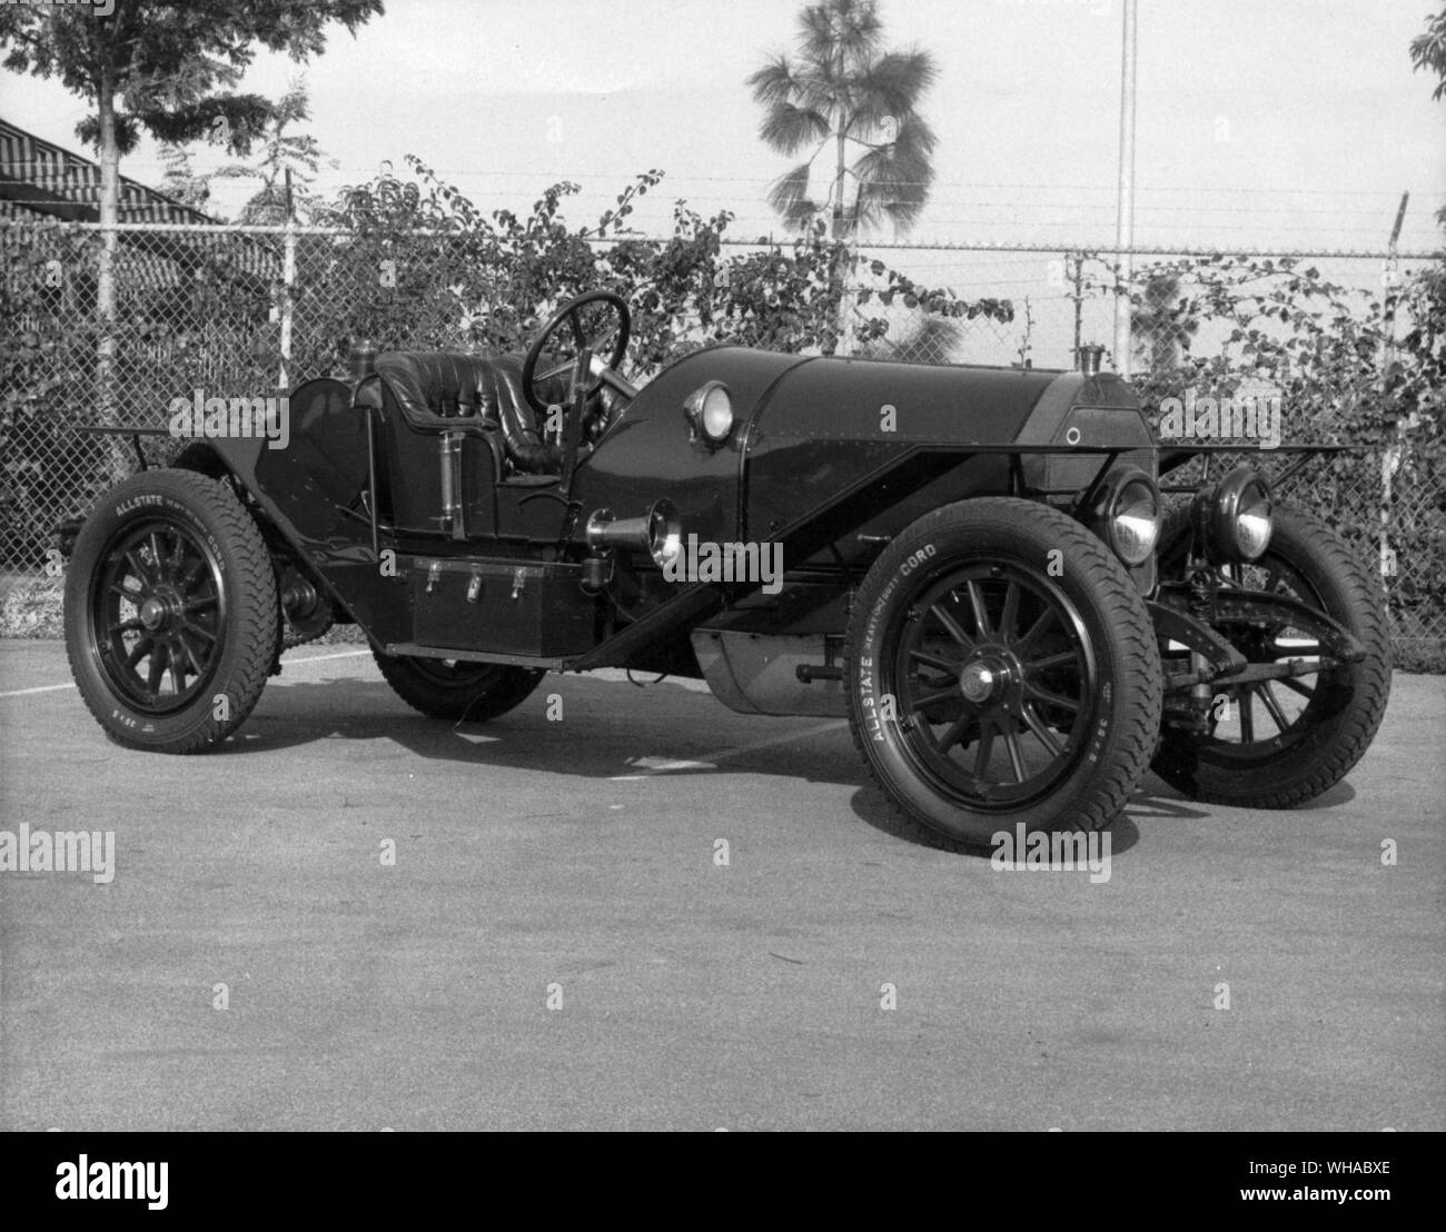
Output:
<instances>
[{"instance_id":1,"label":"all foliage along the fence from left edge to above the car's hood","mask_svg":"<svg viewBox=\"0 0 1446 1232\"><path fill-rule=\"evenodd\" d=\"M526 214L483 213L422 162L408 163L406 179L380 174L318 210L334 233L294 237L289 288L278 234L127 234L117 263L117 422L162 424L169 401L195 388L273 393L286 314L291 385L344 376L362 340L383 350L521 351L558 302L594 288L632 308L635 379L714 343L833 353L846 288L849 343L859 348L891 340L894 304L937 322L1012 315L1008 301L964 301L860 260L821 226L784 246L732 246L732 214L704 218L680 201L669 237L641 239L630 215L658 189L658 171L625 187L594 224L574 227L562 211L576 184L552 185ZM129 470L129 445L77 432L98 421L98 236L38 224L0 228L0 239L10 257L0 330L17 338L0 369L0 518L4 562L32 568L55 525Z\"/></svg>"}]
</instances>

